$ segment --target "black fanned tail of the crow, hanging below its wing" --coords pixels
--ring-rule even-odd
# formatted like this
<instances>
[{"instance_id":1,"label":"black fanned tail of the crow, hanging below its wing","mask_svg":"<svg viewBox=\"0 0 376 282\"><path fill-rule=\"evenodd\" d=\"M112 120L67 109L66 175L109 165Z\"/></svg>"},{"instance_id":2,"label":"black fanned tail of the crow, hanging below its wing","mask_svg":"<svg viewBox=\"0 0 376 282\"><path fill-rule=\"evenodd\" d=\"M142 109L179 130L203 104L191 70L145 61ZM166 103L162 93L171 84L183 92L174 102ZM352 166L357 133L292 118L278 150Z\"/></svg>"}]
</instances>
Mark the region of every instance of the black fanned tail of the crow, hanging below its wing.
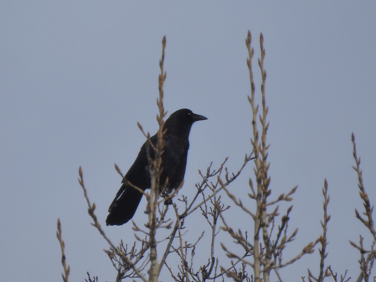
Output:
<instances>
[{"instance_id":1,"label":"black fanned tail of the crow, hanging below its wing","mask_svg":"<svg viewBox=\"0 0 376 282\"><path fill-rule=\"evenodd\" d=\"M125 184L123 184L119 192L119 196L117 195L109 208L106 225L122 225L127 223L135 214L143 196L135 188Z\"/></svg>"}]
</instances>

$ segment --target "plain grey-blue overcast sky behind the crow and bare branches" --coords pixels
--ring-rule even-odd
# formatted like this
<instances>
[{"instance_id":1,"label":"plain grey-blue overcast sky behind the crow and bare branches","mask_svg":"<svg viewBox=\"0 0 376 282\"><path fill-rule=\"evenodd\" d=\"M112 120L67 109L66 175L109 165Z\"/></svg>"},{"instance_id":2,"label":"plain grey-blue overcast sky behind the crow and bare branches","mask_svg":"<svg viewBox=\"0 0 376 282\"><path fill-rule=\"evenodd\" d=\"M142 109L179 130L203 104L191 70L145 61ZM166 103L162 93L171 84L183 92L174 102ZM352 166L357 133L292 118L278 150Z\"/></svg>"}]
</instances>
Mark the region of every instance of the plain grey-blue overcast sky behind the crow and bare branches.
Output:
<instances>
[{"instance_id":1,"label":"plain grey-blue overcast sky behind the crow and bare branches","mask_svg":"<svg viewBox=\"0 0 376 282\"><path fill-rule=\"evenodd\" d=\"M369 247L371 238L355 219L362 202L350 135L355 133L364 184L375 203L375 15L374 1L3 0L0 280L61 280L57 218L70 280L84 280L86 271L99 281L114 280L103 253L107 245L90 225L78 168L104 225L121 181L114 163L126 173L144 142L136 122L151 134L157 129L164 35L165 109L171 114L189 108L208 117L191 130L183 193L193 196L197 169L211 161L217 168L229 156L229 170L237 171L251 151L247 30L255 48L257 95L258 39L264 35L272 195L299 185L290 215L290 232L299 227L298 238L284 259L320 235L326 177L332 216L326 263L339 274L348 269L355 280L359 255L348 242L358 242L361 233ZM249 164L233 183L235 194L248 193L252 171ZM234 229L253 230L252 221L239 215L235 208L227 214ZM139 209L133 219L142 225L146 215ZM196 211L187 220L194 227L188 238L195 240L201 223ZM133 241L130 224L104 229L115 243ZM224 243L233 246L231 240ZM208 252L196 267L207 257ZM318 265L316 251L280 273L284 281L300 281L308 267L317 273ZM165 273L160 280L169 279Z\"/></svg>"}]
</instances>

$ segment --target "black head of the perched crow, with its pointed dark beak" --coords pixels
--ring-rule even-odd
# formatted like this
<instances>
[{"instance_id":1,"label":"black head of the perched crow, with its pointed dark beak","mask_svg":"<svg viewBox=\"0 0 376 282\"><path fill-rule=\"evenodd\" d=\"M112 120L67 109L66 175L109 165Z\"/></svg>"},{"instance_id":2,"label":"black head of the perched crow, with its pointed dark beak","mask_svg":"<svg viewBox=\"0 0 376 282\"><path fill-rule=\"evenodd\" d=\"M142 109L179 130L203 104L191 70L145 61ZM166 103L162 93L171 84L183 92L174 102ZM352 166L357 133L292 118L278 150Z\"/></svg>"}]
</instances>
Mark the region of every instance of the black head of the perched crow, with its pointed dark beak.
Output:
<instances>
[{"instance_id":1,"label":"black head of the perched crow, with its pointed dark beak","mask_svg":"<svg viewBox=\"0 0 376 282\"><path fill-rule=\"evenodd\" d=\"M177 131L189 131L195 121L207 120L203 115L194 114L189 109L180 109L173 112L165 121L164 129L167 129L167 134Z\"/></svg>"}]
</instances>

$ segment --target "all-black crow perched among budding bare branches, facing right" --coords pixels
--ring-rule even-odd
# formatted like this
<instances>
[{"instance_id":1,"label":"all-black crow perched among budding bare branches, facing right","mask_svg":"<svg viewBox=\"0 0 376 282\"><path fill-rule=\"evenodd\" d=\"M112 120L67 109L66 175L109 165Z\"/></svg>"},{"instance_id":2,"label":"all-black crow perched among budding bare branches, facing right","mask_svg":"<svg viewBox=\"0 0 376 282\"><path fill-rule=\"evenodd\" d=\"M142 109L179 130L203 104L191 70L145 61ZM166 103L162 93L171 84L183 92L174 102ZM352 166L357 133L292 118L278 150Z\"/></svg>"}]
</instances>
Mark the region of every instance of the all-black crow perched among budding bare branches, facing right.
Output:
<instances>
[{"instance_id":1,"label":"all-black crow perched among budding bare branches, facing right","mask_svg":"<svg viewBox=\"0 0 376 282\"><path fill-rule=\"evenodd\" d=\"M189 149L188 136L191 126L195 121L207 120L203 115L194 114L191 110L180 109L165 121L163 129L166 130L163 135L164 147L162 153L162 173L159 179L160 185L163 185L168 177L167 188L171 191L177 189L183 181L187 154ZM156 145L157 135L150 137L150 141ZM151 187L150 174L147 161L147 142L141 147L138 156L129 168L124 179L142 190ZM154 150L149 146L150 157L154 158ZM143 196L132 186L123 181L115 199L112 201L106 219L107 225L122 225L127 223L135 214L137 206Z\"/></svg>"}]
</instances>

